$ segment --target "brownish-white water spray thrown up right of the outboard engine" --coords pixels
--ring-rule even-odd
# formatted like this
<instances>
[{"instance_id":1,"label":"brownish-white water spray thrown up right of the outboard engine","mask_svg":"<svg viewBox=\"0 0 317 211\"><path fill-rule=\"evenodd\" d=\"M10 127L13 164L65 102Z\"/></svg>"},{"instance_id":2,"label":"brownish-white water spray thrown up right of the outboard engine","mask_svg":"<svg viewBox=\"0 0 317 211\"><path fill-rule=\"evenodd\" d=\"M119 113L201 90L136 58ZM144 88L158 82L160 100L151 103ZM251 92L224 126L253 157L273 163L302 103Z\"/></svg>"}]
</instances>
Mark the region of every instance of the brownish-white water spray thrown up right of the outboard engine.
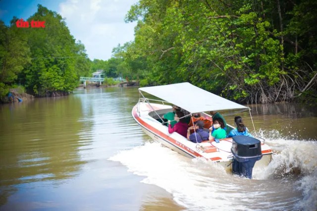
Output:
<instances>
[{"instance_id":1,"label":"brownish-white water spray thrown up right of the outboard engine","mask_svg":"<svg viewBox=\"0 0 317 211\"><path fill-rule=\"evenodd\" d=\"M282 138L278 131L270 131L266 144L273 150L272 161L262 171L261 179L289 179L294 177L295 187L302 192L298 209L317 209L317 142ZM273 134L273 135L272 135Z\"/></svg>"}]
</instances>

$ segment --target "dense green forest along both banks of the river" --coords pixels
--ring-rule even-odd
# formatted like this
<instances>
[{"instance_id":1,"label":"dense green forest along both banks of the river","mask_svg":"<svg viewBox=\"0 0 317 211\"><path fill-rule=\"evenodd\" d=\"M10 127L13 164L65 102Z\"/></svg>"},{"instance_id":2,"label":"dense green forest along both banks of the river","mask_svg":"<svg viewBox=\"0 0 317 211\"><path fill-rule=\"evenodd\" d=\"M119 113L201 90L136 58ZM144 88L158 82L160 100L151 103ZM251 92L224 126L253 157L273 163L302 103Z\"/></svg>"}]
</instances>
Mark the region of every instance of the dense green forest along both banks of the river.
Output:
<instances>
[{"instance_id":1,"label":"dense green forest along both banks of the river","mask_svg":"<svg viewBox=\"0 0 317 211\"><path fill-rule=\"evenodd\" d=\"M16 86L68 93L103 69L142 86L190 82L241 103L316 103L315 0L140 0L125 17L137 22L134 41L94 61L59 14L39 5L33 19L47 27L0 21L1 99Z\"/></svg>"}]
</instances>

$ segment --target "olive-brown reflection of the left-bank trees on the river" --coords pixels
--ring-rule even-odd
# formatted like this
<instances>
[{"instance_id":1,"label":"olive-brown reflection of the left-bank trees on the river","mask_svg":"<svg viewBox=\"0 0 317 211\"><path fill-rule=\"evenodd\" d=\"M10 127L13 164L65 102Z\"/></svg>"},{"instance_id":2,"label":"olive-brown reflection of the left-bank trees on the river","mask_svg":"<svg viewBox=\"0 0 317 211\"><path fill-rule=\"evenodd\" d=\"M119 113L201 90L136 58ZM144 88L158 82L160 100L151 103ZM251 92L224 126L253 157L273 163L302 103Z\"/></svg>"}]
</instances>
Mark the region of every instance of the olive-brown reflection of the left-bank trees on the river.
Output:
<instances>
[{"instance_id":1,"label":"olive-brown reflection of the left-bank trees on the river","mask_svg":"<svg viewBox=\"0 0 317 211\"><path fill-rule=\"evenodd\" d=\"M9 108L8 108L9 107ZM70 96L36 99L2 107L0 128L1 193L16 191L16 185L75 176L82 161L78 150L90 142L89 122L82 118L79 98ZM9 140L9 141L8 141ZM2 195L1 194L1 195ZM0 204L5 203L1 197Z\"/></svg>"}]
</instances>

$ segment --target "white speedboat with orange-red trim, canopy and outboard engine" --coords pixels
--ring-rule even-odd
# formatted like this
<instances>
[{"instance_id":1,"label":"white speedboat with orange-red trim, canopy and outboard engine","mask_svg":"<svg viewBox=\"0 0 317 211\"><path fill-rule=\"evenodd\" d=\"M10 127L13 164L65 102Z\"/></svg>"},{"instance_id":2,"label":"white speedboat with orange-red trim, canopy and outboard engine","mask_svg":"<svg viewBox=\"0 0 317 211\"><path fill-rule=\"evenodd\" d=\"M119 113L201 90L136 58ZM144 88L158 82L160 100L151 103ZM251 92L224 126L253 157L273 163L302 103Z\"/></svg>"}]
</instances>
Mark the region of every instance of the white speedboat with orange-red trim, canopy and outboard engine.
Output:
<instances>
[{"instance_id":1,"label":"white speedboat with orange-red trim, canopy and outboard engine","mask_svg":"<svg viewBox=\"0 0 317 211\"><path fill-rule=\"evenodd\" d=\"M188 158L205 158L222 165L228 172L249 178L252 177L253 167L267 166L271 161L272 151L262 138L260 140L260 138L238 135L219 139L217 142L208 140L194 143L177 132L169 133L168 127L161 118L165 113L172 111L172 105L187 111L187 116L190 118L193 118L193 114L199 113L201 117L210 120L212 116L209 111L236 113L249 110L251 116L249 107L190 83L140 87L139 94L139 101L132 109L134 120L152 139L179 154ZM157 99L145 97L148 94ZM227 131L233 128L227 124Z\"/></svg>"}]
</instances>

